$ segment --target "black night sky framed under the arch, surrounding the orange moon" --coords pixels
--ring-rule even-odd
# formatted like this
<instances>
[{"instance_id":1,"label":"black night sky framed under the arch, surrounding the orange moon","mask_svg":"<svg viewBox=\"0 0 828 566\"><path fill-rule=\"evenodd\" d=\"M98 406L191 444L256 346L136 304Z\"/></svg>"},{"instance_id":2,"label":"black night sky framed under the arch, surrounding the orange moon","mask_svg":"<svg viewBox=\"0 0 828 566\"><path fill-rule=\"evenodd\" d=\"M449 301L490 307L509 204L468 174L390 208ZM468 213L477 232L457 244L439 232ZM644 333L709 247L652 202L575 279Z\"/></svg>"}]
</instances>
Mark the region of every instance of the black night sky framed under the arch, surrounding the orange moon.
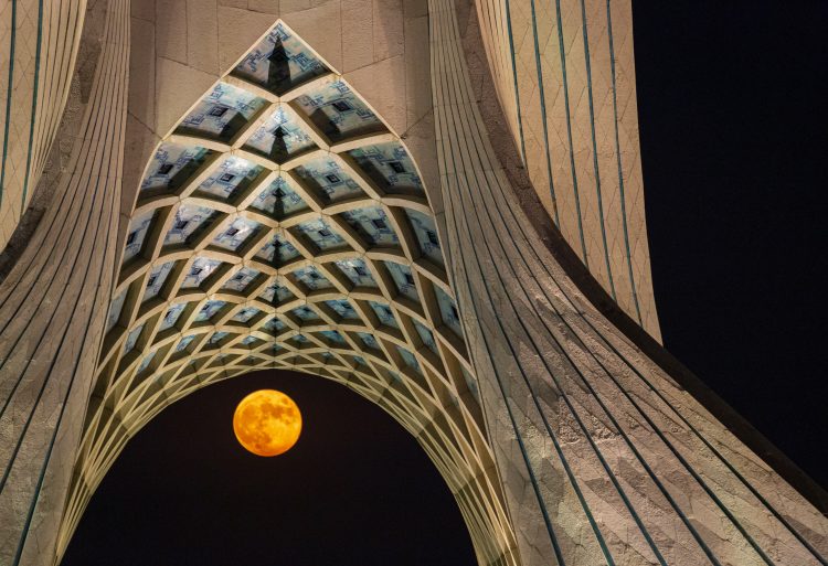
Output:
<instances>
[{"instance_id":1,"label":"black night sky framed under the arch, surrounding the orange moon","mask_svg":"<svg viewBox=\"0 0 828 566\"><path fill-rule=\"evenodd\" d=\"M236 403L278 388L299 442L263 459L233 437ZM473 565L437 469L382 408L328 380L259 371L172 404L107 472L62 566Z\"/></svg>"}]
</instances>

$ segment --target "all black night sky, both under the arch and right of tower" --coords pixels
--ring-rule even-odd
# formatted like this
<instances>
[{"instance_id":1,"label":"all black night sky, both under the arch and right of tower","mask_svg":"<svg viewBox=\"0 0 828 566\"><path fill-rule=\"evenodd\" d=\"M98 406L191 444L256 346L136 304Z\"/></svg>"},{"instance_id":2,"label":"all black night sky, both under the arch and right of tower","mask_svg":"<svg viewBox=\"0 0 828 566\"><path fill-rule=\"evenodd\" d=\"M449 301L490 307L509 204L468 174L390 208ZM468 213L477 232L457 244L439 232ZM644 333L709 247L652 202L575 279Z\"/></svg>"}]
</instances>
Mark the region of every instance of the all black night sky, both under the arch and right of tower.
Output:
<instances>
[{"instance_id":1,"label":"all black night sky, both under the arch and right of tower","mask_svg":"<svg viewBox=\"0 0 828 566\"><path fill-rule=\"evenodd\" d=\"M634 6L647 222L667 348L822 485L828 3ZM235 441L256 388L305 428L278 458ZM113 554L118 559L113 560ZM436 556L436 557L435 557ZM65 566L471 565L416 441L326 380L257 373L174 404L124 450Z\"/></svg>"}]
</instances>

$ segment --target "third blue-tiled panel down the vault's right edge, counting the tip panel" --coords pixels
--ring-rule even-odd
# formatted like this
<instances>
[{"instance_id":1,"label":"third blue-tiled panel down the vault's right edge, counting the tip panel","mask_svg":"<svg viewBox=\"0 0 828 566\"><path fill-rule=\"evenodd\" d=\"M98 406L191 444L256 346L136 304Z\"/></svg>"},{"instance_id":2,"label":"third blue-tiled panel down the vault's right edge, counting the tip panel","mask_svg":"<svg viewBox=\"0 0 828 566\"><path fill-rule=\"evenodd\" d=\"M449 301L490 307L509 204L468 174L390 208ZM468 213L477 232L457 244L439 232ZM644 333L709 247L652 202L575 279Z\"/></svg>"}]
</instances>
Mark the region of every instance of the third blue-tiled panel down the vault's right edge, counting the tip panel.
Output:
<instances>
[{"instance_id":1,"label":"third blue-tiled panel down the vault's right edge, counting the tip panel","mask_svg":"<svg viewBox=\"0 0 828 566\"><path fill-rule=\"evenodd\" d=\"M386 193L423 193L423 181L414 168L414 161L399 142L365 146L349 153L360 169Z\"/></svg>"}]
</instances>

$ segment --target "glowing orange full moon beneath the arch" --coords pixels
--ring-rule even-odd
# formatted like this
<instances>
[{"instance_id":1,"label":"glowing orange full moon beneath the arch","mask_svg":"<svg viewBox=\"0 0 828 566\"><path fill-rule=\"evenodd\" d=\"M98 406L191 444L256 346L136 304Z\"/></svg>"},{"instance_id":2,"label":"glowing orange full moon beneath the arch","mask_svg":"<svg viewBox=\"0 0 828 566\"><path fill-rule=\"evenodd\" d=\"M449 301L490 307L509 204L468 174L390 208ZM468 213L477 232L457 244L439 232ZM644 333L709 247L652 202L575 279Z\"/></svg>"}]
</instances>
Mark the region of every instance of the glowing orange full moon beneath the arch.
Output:
<instances>
[{"instance_id":1,"label":"glowing orange full moon beneath the arch","mask_svg":"<svg viewBox=\"0 0 828 566\"><path fill-rule=\"evenodd\" d=\"M259 389L236 407L233 431L238 442L257 456L287 452L299 439L301 414L294 399L282 392Z\"/></svg>"}]
</instances>

